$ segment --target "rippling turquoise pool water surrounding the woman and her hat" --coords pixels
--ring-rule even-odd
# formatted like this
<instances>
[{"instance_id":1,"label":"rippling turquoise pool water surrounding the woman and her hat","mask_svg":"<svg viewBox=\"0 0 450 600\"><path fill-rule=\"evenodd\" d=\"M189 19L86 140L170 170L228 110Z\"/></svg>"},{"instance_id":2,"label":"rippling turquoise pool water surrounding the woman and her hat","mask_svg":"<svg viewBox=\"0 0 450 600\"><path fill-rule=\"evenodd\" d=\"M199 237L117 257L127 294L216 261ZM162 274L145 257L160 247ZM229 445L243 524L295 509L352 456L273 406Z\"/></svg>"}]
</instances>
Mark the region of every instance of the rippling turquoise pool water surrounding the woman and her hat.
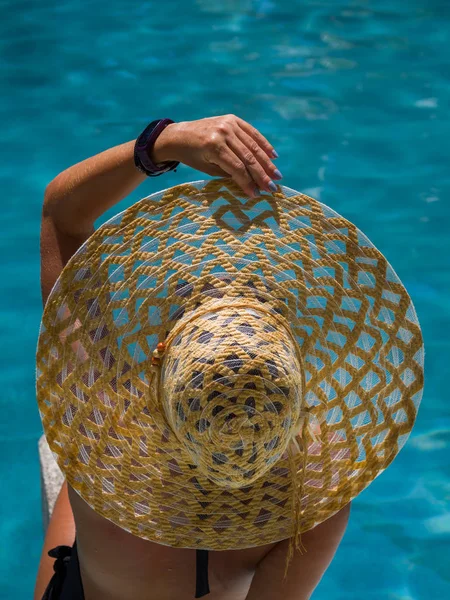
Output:
<instances>
[{"instance_id":1,"label":"rippling turquoise pool water surrounding the woman and her hat","mask_svg":"<svg viewBox=\"0 0 450 600\"><path fill-rule=\"evenodd\" d=\"M0 10L0 598L32 596L42 544L34 353L45 186L149 120L230 112L274 144L282 183L386 254L425 336L416 428L353 503L314 600L450 597L450 3L1 0ZM203 177L181 167L121 206Z\"/></svg>"}]
</instances>

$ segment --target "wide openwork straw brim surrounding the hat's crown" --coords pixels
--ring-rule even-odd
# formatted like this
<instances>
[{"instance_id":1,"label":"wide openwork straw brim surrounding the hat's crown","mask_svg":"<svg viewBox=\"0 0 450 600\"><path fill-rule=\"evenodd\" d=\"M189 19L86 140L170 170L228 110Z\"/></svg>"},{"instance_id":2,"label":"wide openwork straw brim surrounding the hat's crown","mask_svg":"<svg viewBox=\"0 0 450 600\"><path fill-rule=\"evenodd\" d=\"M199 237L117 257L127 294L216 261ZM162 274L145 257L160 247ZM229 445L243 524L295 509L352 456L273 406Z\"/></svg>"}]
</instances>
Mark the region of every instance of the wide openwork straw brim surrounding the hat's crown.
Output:
<instances>
[{"instance_id":1,"label":"wide openwork straw brim surrounding the hat's crown","mask_svg":"<svg viewBox=\"0 0 450 600\"><path fill-rule=\"evenodd\" d=\"M287 459L251 486L219 488L191 464L151 394L156 344L218 293L270 302L301 347L311 419L303 531L392 462L422 396L423 343L408 293L329 207L285 186L252 200L215 179L127 208L70 259L49 296L37 397L68 483L105 518L170 546L239 549L294 531Z\"/></svg>"}]
</instances>

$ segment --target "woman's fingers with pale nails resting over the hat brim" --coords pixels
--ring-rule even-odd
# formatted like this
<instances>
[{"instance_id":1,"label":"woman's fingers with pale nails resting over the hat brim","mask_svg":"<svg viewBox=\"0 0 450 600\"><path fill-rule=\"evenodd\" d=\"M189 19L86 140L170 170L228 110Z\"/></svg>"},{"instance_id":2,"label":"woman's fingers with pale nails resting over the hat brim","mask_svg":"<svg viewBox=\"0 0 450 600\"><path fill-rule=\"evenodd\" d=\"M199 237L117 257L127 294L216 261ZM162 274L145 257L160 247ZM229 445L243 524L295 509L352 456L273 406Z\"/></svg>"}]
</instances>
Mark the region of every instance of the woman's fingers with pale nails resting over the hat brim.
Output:
<instances>
[{"instance_id":1,"label":"woman's fingers with pale nails resting over the hat brim","mask_svg":"<svg viewBox=\"0 0 450 600\"><path fill-rule=\"evenodd\" d=\"M256 185L262 190L273 192L272 179L281 179L281 173L258 142L239 128L236 135L230 137L227 143L240 157Z\"/></svg>"}]
</instances>

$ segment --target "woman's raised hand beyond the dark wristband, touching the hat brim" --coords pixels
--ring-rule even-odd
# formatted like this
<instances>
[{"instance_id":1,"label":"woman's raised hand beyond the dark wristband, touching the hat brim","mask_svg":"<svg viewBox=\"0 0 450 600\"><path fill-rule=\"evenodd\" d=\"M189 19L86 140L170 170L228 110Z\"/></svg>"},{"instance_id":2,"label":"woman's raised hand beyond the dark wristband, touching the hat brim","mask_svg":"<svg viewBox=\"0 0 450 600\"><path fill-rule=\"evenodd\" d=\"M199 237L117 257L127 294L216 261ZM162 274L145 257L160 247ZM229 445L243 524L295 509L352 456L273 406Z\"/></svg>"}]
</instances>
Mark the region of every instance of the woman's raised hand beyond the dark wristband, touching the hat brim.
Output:
<instances>
[{"instance_id":1,"label":"woman's raised hand beyond the dark wristband, touching the hat brim","mask_svg":"<svg viewBox=\"0 0 450 600\"><path fill-rule=\"evenodd\" d=\"M235 115L172 123L159 138L163 136L164 161L177 160L208 175L231 176L250 197L259 195L255 188L275 191L272 179L282 177L271 160L277 157L272 145Z\"/></svg>"}]
</instances>

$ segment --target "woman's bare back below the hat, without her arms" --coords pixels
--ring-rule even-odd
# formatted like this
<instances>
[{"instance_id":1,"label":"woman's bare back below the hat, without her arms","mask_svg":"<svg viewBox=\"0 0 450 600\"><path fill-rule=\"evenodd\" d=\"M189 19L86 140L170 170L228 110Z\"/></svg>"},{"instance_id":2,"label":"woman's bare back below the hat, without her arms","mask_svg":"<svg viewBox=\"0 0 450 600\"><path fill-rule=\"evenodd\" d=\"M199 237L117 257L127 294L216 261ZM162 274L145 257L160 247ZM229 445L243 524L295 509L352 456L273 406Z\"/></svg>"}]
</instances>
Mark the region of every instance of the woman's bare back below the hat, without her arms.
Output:
<instances>
[{"instance_id":1,"label":"woman's bare back below the hat, without her arms","mask_svg":"<svg viewBox=\"0 0 450 600\"><path fill-rule=\"evenodd\" d=\"M191 600L196 552L138 538L69 488L86 600ZM244 600L258 563L276 544L209 553L211 600Z\"/></svg>"}]
</instances>

